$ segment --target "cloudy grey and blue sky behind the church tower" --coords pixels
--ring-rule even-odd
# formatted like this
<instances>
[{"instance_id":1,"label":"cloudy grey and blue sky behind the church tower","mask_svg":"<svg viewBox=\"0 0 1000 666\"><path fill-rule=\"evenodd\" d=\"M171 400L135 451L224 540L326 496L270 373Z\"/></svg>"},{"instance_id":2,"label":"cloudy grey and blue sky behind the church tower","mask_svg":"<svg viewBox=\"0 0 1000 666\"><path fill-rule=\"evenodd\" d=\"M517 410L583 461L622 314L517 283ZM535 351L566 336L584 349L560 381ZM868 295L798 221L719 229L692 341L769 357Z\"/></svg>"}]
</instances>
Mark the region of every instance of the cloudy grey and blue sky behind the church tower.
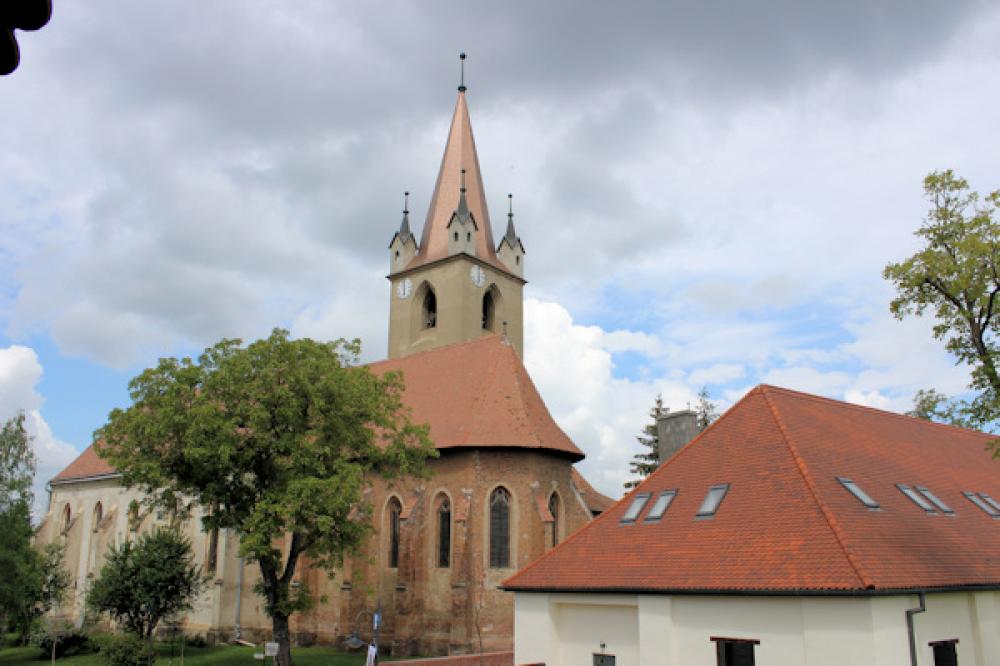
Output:
<instances>
[{"instance_id":1,"label":"cloudy grey and blue sky behind the church tower","mask_svg":"<svg viewBox=\"0 0 1000 666\"><path fill-rule=\"evenodd\" d=\"M57 2L0 78L0 418L37 492L128 382L223 337L386 355L460 51L525 363L618 497L662 395L770 383L894 411L968 370L896 321L921 183L1000 188L1000 5ZM499 238L503 229L494 229Z\"/></svg>"}]
</instances>

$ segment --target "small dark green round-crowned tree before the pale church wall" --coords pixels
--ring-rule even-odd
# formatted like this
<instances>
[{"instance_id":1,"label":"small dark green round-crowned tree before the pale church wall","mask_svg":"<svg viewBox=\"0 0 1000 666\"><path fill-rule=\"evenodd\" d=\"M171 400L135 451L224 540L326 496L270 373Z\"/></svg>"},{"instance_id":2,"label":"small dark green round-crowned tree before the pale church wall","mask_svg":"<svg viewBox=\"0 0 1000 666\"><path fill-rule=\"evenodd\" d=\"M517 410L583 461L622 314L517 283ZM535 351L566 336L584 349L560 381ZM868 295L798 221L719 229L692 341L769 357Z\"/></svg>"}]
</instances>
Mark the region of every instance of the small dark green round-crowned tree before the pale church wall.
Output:
<instances>
[{"instance_id":1,"label":"small dark green round-crowned tree before the pale church wall","mask_svg":"<svg viewBox=\"0 0 1000 666\"><path fill-rule=\"evenodd\" d=\"M157 529L109 549L87 606L145 640L151 662L156 626L190 609L203 584L191 543L174 529Z\"/></svg>"}]
</instances>

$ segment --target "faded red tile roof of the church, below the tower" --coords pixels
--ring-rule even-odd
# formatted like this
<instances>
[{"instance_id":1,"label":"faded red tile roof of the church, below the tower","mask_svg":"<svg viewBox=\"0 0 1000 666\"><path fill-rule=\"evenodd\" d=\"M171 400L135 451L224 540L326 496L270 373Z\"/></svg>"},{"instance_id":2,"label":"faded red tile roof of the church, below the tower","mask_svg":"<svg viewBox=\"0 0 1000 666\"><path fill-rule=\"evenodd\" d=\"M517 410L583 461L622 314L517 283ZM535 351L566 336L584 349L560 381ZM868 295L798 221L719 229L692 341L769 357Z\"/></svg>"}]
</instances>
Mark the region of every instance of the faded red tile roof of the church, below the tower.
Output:
<instances>
[{"instance_id":1,"label":"faded red tile roof of the church, below the tower","mask_svg":"<svg viewBox=\"0 0 1000 666\"><path fill-rule=\"evenodd\" d=\"M415 423L430 424L438 449L514 447L553 451L574 461L584 457L556 425L517 352L500 335L369 367L380 374L402 371L403 402ZM87 447L53 481L113 473Z\"/></svg>"}]
</instances>

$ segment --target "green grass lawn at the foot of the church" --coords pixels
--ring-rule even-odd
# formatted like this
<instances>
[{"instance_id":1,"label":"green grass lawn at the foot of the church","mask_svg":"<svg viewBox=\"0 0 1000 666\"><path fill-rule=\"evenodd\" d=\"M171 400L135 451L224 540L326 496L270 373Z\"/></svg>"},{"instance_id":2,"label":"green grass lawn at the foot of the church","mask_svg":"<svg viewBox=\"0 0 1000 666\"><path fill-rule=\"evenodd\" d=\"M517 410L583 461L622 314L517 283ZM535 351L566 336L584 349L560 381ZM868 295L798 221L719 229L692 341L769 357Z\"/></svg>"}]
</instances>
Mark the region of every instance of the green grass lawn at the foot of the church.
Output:
<instances>
[{"instance_id":1,"label":"green grass lawn at the foot of the church","mask_svg":"<svg viewBox=\"0 0 1000 666\"><path fill-rule=\"evenodd\" d=\"M174 649L174 666L180 666L180 646ZM211 648L184 649L184 666L252 666L253 664L263 664L265 662L253 658L254 652L263 652L263 648L247 648L238 645L219 645ZM170 645L161 643L157 646L157 666L166 666L170 657ZM296 666L364 666L364 652L347 654L330 647L293 648L292 657ZM391 657L386 657L385 661L390 661ZM380 661L381 661L380 656ZM26 648L0 648L0 665L10 664L33 664L43 666L49 660L41 656L41 651L37 647ZM85 654L73 657L57 659L57 664L66 666L103 666L104 658L99 654ZM267 660L267 666L271 666L272 660Z\"/></svg>"}]
</instances>

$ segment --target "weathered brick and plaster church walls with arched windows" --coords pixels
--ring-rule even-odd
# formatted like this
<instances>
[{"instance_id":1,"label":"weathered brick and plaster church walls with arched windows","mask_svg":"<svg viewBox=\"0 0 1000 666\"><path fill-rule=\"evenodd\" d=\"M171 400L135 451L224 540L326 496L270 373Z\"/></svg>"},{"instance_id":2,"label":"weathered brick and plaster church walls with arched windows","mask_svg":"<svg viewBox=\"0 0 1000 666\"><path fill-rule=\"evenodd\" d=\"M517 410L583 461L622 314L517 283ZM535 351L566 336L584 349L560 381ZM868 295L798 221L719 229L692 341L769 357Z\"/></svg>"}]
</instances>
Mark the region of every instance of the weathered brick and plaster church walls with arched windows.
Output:
<instances>
[{"instance_id":1,"label":"weathered brick and plaster church walls with arched windows","mask_svg":"<svg viewBox=\"0 0 1000 666\"><path fill-rule=\"evenodd\" d=\"M444 450L430 462L426 479L386 483L375 479L366 493L372 511L373 533L359 553L348 557L332 573L313 569L302 561L297 584L308 585L323 599L309 612L293 618L292 631L301 644L342 642L353 631L371 638L371 613L381 605L380 644L393 654L440 655L479 650L509 650L513 637L512 595L497 586L553 544L590 520L591 514L571 482L569 460L547 452L525 449ZM512 500L510 567L489 566L489 497L503 486ZM558 519L548 505L558 497ZM438 566L436 502L447 497L451 505L451 562ZM400 522L399 566L389 566L389 501L403 507ZM49 514L39 529L39 542L62 541L75 589L63 612L82 620L83 598L89 580L97 574L111 544L166 524L169 516L129 507L140 499L116 479L53 486ZM103 517L95 523L100 503ZM65 507L71 519L61 524ZM211 535L201 531L200 514L183 526L192 540L196 561L209 565ZM222 531L217 541L214 578L195 608L185 617L188 633L209 639L231 640L239 631L244 639L270 635L270 620L253 592L259 579L255 564L242 564L238 539ZM242 576L240 570L242 568Z\"/></svg>"}]
</instances>

